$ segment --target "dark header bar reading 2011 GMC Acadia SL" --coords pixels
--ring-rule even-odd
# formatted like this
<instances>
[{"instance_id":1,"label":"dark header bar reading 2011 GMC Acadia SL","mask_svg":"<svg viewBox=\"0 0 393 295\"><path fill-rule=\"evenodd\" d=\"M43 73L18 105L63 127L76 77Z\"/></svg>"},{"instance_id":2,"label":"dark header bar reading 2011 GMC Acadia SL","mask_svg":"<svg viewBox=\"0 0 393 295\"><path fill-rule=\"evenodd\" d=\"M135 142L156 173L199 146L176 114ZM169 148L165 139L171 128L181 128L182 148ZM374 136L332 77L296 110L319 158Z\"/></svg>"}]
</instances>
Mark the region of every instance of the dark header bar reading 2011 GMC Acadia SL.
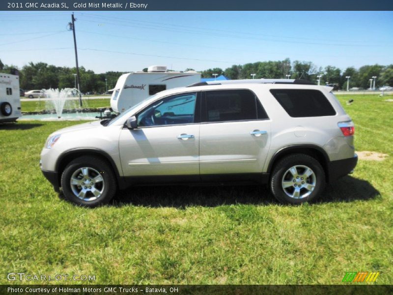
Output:
<instances>
[{"instance_id":1,"label":"dark header bar reading 2011 GMC Acadia SL","mask_svg":"<svg viewBox=\"0 0 393 295\"><path fill-rule=\"evenodd\" d=\"M392 0L6 0L4 11L365 11L393 10Z\"/></svg>"}]
</instances>

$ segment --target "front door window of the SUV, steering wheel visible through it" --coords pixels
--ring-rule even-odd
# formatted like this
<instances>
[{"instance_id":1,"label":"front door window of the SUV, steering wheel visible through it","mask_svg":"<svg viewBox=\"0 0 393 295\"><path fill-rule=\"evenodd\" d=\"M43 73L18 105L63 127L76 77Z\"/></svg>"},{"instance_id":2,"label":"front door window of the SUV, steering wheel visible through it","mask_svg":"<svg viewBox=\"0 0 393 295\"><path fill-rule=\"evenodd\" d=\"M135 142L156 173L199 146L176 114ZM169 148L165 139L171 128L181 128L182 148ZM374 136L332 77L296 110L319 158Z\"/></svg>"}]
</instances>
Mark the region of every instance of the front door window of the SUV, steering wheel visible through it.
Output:
<instances>
[{"instance_id":1,"label":"front door window of the SUV, steering wheel visible through it","mask_svg":"<svg viewBox=\"0 0 393 295\"><path fill-rule=\"evenodd\" d=\"M197 93L183 93L156 101L138 115L138 126L194 123Z\"/></svg>"}]
</instances>

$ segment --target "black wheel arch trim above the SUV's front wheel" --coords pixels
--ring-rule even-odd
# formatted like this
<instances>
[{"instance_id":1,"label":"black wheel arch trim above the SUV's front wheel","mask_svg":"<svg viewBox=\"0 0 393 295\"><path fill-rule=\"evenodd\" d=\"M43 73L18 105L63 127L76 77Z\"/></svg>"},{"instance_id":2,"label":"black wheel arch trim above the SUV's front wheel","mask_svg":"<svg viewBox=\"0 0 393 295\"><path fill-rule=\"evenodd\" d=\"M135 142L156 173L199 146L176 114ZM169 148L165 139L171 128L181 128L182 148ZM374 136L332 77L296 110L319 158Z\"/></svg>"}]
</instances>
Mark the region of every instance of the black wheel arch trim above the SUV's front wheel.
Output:
<instances>
[{"instance_id":1,"label":"black wheel arch trim above the SUV's front wheel","mask_svg":"<svg viewBox=\"0 0 393 295\"><path fill-rule=\"evenodd\" d=\"M107 162L110 167L112 168L112 171L116 177L117 180L117 186L120 187L122 182L121 182L121 177L119 174L119 171L117 170L116 164L114 163L112 157L105 151L98 149L98 148L76 148L76 149L70 149L66 150L63 152L57 159L56 162L56 171L57 171L57 177L58 177L58 183L60 184L61 181L61 175L67 166L68 163L70 163L73 159L81 156L95 156L98 157L105 162Z\"/></svg>"}]
</instances>

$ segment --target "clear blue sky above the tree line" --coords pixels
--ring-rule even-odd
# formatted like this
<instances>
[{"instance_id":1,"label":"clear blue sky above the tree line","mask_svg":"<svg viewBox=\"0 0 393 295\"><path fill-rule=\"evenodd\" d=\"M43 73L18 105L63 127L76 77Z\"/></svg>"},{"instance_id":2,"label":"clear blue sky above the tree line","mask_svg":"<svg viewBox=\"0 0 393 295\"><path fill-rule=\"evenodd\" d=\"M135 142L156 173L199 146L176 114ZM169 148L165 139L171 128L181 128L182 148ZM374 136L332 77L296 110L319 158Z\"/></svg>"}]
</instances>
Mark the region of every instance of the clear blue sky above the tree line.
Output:
<instances>
[{"instance_id":1,"label":"clear blue sky above the tree line","mask_svg":"<svg viewBox=\"0 0 393 295\"><path fill-rule=\"evenodd\" d=\"M75 12L80 66L173 70L282 60L341 69L393 63L393 12ZM0 12L0 59L75 66L71 12Z\"/></svg>"}]
</instances>

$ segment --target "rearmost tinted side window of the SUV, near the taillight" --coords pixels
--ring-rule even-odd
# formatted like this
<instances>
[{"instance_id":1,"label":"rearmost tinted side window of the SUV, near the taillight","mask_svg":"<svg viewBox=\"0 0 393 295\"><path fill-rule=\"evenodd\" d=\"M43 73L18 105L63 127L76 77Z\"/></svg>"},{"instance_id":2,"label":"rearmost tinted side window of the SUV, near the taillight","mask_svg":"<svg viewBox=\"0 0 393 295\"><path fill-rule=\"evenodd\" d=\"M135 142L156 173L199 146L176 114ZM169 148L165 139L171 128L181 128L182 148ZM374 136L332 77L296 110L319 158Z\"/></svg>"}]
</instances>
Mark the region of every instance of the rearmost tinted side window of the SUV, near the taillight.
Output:
<instances>
[{"instance_id":1,"label":"rearmost tinted side window of the SUV, near the taillight","mask_svg":"<svg viewBox=\"0 0 393 295\"><path fill-rule=\"evenodd\" d=\"M270 92L293 118L336 115L329 100L319 90L271 89Z\"/></svg>"}]
</instances>

